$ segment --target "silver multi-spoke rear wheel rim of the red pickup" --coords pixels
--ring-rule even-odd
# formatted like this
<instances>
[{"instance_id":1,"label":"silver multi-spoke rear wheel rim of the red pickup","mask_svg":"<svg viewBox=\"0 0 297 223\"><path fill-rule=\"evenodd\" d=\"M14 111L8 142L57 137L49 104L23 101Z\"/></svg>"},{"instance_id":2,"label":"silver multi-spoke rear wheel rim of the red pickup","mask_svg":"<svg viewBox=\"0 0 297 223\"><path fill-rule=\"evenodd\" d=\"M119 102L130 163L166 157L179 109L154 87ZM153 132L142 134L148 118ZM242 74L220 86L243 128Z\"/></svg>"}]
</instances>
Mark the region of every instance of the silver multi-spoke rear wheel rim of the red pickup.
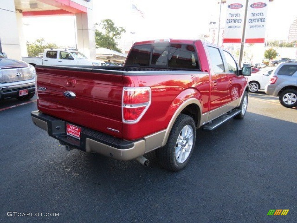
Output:
<instances>
[{"instance_id":1,"label":"silver multi-spoke rear wheel rim of the red pickup","mask_svg":"<svg viewBox=\"0 0 297 223\"><path fill-rule=\"evenodd\" d=\"M193 147L193 128L191 125L186 125L179 133L175 147L175 157L178 163L183 163L187 160Z\"/></svg>"}]
</instances>

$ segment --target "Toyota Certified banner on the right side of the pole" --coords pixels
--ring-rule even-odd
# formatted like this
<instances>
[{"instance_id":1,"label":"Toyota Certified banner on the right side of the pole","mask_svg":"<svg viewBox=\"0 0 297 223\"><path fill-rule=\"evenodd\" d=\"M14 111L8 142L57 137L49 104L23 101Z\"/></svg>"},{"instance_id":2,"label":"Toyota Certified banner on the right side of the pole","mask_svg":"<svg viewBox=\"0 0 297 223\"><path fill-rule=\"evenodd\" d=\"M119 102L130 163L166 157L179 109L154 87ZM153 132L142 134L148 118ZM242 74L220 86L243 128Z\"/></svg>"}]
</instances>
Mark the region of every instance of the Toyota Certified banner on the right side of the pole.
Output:
<instances>
[{"instance_id":1,"label":"Toyota Certified banner on the right side of the pole","mask_svg":"<svg viewBox=\"0 0 297 223\"><path fill-rule=\"evenodd\" d=\"M264 43L269 0L249 0L245 43Z\"/></svg>"}]
</instances>

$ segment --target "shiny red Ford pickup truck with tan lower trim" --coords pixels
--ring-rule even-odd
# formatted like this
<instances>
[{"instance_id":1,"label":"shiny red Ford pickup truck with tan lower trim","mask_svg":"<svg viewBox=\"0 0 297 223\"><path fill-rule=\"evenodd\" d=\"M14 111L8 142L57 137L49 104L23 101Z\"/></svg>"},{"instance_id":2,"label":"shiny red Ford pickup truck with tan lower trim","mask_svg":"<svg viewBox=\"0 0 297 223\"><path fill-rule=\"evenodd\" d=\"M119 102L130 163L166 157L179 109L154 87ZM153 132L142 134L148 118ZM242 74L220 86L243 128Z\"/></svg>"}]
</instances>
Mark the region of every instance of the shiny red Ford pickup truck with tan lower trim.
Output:
<instances>
[{"instance_id":1,"label":"shiny red Ford pickup truck with tan lower trim","mask_svg":"<svg viewBox=\"0 0 297 223\"><path fill-rule=\"evenodd\" d=\"M135 43L124 67L37 65L33 123L66 146L127 161L184 168L196 129L243 118L250 67L201 40Z\"/></svg>"}]
</instances>

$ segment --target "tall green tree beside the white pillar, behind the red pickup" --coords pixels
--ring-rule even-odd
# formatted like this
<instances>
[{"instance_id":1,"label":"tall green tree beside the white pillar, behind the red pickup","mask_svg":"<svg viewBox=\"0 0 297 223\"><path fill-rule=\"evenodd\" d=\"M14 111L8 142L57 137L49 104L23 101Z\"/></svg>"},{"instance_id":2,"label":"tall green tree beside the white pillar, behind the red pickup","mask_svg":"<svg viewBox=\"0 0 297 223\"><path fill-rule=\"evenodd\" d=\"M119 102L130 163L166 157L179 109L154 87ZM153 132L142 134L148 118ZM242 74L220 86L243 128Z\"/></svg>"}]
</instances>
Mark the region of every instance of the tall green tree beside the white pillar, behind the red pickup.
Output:
<instances>
[{"instance_id":1,"label":"tall green tree beside the white pillar, behind the red pickup","mask_svg":"<svg viewBox=\"0 0 297 223\"><path fill-rule=\"evenodd\" d=\"M96 23L96 25L98 25ZM123 27L116 27L110 19L102 20L99 24L102 26L102 31L95 30L95 42L96 48L103 47L110 50L121 52L118 48L116 40L121 38L121 34L125 33L126 30Z\"/></svg>"}]
</instances>

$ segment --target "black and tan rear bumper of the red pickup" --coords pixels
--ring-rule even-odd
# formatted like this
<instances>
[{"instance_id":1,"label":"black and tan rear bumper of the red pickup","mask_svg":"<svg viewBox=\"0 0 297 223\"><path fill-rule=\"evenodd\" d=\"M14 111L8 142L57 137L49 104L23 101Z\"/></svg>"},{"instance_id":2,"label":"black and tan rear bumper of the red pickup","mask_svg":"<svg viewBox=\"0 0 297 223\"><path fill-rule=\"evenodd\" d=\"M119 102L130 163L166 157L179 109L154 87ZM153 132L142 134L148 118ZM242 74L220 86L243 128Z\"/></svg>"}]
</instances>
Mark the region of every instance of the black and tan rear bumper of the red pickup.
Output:
<instances>
[{"instance_id":1,"label":"black and tan rear bumper of the red pickup","mask_svg":"<svg viewBox=\"0 0 297 223\"><path fill-rule=\"evenodd\" d=\"M66 121L51 117L38 111L31 112L33 123L48 132L50 136L60 141L68 148L86 152L95 152L116 160L132 160L145 153L146 142L124 141L113 136L81 127L80 139L66 134Z\"/></svg>"}]
</instances>

